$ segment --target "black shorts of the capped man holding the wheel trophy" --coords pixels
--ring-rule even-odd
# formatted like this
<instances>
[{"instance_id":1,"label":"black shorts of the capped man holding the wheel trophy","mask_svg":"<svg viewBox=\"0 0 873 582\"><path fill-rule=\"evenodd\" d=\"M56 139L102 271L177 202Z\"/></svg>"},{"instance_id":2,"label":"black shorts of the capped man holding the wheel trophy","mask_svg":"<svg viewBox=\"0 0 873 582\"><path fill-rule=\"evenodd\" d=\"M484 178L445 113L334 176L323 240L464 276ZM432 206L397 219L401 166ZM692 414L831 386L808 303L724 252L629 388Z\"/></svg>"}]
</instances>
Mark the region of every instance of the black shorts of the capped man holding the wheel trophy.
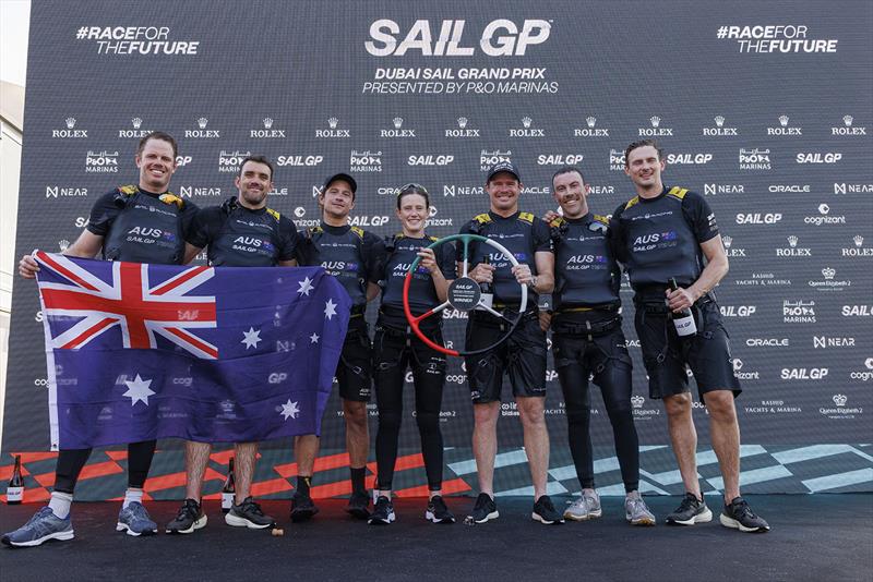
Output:
<instances>
[{"instance_id":1,"label":"black shorts of the capped man holding the wheel trophy","mask_svg":"<svg viewBox=\"0 0 873 582\"><path fill-rule=\"evenodd\" d=\"M491 345L504 334L475 314L467 323L467 350ZM528 312L506 341L488 352L465 357L467 381L474 403L500 402L503 372L509 372L514 397L546 398L546 332L539 328L536 312Z\"/></svg>"}]
</instances>

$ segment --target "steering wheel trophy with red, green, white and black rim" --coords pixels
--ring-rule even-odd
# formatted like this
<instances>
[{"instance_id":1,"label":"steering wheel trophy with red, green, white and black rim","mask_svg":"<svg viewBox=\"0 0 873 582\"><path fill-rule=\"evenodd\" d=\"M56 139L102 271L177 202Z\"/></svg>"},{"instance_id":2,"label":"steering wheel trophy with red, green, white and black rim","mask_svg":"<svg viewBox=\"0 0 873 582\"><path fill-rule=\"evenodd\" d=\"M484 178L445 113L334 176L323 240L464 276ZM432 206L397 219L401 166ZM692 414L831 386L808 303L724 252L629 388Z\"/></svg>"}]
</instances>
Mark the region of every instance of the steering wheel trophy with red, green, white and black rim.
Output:
<instances>
[{"instance_id":1,"label":"steering wheel trophy with red, green, white and black rim","mask_svg":"<svg viewBox=\"0 0 873 582\"><path fill-rule=\"evenodd\" d=\"M510 263L513 267L518 266L518 260L515 259L513 254L502 244L492 241L491 239L487 239L485 237L480 237L479 234L452 234L451 237L445 237L440 239L439 241L430 244L428 248L436 248L441 244L445 244L451 241L462 241L464 243L464 268L462 269L461 277L452 281L449 286L449 293L447 300L433 307L428 310L427 312L422 313L421 315L412 315L412 312L409 310L409 287L412 283L412 274L418 268L418 264L421 262L421 257L416 257L412 264L409 266L409 270L406 272L406 279L403 283L403 311L406 313L406 319L409 322L409 327L412 331L415 331L416 336L423 341L428 347L433 348L438 352L442 352L447 355L457 355L457 356L465 356L465 355L476 355L489 350L494 349L495 345L499 345L510 335L515 330L515 327L518 325L518 322L522 320L522 315L525 313L525 308L527 307L527 286L521 284L522 288L522 303L518 307L518 313L515 314L515 317L506 317L499 311L494 310L491 305L488 305L482 301L482 292L479 287L479 283L476 282L471 277L469 277L469 246L471 241L485 243L489 246L493 246L498 251L500 251L503 256L510 259ZM455 308L459 312L469 313L474 310L481 310L500 317L506 324L509 324L506 331L491 345L487 345L479 350L450 350L435 343L431 339L429 339L424 334L421 332L419 329L419 325L421 322L431 317L433 315L440 314L446 307Z\"/></svg>"}]
</instances>

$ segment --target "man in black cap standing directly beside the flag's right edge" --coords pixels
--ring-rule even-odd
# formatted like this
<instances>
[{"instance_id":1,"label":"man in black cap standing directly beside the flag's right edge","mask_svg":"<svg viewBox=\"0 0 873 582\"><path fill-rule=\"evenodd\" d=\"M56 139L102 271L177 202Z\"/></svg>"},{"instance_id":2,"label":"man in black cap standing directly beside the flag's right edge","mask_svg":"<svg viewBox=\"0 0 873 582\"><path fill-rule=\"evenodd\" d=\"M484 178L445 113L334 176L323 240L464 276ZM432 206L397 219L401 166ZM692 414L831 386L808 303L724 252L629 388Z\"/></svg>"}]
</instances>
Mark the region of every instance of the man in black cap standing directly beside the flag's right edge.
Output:
<instances>
[{"instance_id":1,"label":"man in black cap standing directly beside the flag's right edge","mask_svg":"<svg viewBox=\"0 0 873 582\"><path fill-rule=\"evenodd\" d=\"M351 470L351 497L346 511L356 518L367 519L370 517L367 509L370 497L364 485L370 450L367 401L370 400L372 383L372 353L363 312L367 302L380 292L378 283L382 278L385 245L380 237L349 226L348 217L355 208L357 190L355 179L346 173L332 175L324 182L319 195L321 226L307 230L299 256L303 265L324 267L343 283L351 298L351 318L339 355L336 379L343 399L346 448ZM310 496L319 437L299 436L295 438L294 448L298 476L291 502L291 521L306 521L319 511Z\"/></svg>"}]
</instances>

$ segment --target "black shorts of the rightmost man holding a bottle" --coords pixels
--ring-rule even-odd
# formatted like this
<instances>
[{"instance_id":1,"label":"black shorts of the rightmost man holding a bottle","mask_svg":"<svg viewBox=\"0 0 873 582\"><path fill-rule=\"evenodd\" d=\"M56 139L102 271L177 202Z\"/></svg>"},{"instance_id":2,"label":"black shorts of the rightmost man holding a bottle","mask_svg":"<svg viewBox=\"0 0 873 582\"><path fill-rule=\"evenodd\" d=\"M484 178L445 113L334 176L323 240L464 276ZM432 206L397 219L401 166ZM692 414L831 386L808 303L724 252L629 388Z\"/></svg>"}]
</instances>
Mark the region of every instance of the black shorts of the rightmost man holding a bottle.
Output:
<instances>
[{"instance_id":1,"label":"black shorts of the rightmost man holding a bottle","mask_svg":"<svg viewBox=\"0 0 873 582\"><path fill-rule=\"evenodd\" d=\"M679 339L667 313L647 312L643 303L637 303L634 324L648 373L649 398L687 392L687 368L694 374L702 401L703 395L713 390L731 390L734 397L742 392L733 375L729 336L718 304L698 301L693 311L697 334Z\"/></svg>"}]
</instances>

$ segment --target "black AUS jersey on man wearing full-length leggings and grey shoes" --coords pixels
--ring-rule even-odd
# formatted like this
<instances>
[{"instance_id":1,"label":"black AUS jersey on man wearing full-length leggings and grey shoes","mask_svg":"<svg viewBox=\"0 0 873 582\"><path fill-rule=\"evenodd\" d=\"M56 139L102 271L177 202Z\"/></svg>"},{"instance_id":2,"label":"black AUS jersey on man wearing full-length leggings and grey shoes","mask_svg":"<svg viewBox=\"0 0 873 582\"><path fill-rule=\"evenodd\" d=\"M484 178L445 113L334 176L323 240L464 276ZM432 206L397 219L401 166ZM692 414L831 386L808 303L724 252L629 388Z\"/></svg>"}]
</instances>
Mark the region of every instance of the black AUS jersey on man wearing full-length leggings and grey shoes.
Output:
<instances>
[{"instance_id":1,"label":"black AUS jersey on man wearing full-length leggings and grey shoes","mask_svg":"<svg viewBox=\"0 0 873 582\"><path fill-rule=\"evenodd\" d=\"M591 213L581 218L555 218L554 305L571 307L618 306L621 271L609 244L609 219Z\"/></svg>"}]
</instances>

